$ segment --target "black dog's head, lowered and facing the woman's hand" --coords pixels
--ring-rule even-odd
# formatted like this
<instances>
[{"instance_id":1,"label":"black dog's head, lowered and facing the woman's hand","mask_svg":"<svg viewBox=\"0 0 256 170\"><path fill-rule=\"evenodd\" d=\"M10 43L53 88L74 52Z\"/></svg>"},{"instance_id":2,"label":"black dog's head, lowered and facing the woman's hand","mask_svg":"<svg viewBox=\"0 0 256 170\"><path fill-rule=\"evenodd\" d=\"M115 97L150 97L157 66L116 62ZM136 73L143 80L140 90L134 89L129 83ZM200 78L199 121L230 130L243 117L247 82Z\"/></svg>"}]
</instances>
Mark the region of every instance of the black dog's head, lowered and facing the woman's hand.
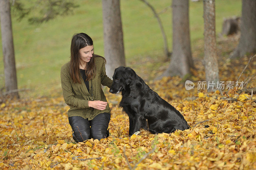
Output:
<instances>
[{"instance_id":1,"label":"black dog's head, lowered and facing the woman's hand","mask_svg":"<svg viewBox=\"0 0 256 170\"><path fill-rule=\"evenodd\" d=\"M113 84L109 89L110 93L119 93L132 84L132 80L136 78L136 73L130 67L120 66L115 69L113 75Z\"/></svg>"}]
</instances>

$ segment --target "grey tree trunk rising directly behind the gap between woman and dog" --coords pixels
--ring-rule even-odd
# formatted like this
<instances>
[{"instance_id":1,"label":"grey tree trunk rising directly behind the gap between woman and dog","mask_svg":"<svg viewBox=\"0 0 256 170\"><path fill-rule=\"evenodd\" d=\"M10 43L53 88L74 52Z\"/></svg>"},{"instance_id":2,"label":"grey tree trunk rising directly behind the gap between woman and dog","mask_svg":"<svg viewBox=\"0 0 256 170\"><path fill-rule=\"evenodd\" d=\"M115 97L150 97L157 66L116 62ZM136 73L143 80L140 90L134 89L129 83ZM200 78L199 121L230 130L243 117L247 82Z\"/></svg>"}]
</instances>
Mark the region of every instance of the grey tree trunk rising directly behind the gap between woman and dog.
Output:
<instances>
[{"instance_id":1,"label":"grey tree trunk rising directly behind the gap between woman and dog","mask_svg":"<svg viewBox=\"0 0 256 170\"><path fill-rule=\"evenodd\" d=\"M102 14L106 74L112 79L115 68L125 66L119 0L102 0Z\"/></svg>"}]
</instances>

